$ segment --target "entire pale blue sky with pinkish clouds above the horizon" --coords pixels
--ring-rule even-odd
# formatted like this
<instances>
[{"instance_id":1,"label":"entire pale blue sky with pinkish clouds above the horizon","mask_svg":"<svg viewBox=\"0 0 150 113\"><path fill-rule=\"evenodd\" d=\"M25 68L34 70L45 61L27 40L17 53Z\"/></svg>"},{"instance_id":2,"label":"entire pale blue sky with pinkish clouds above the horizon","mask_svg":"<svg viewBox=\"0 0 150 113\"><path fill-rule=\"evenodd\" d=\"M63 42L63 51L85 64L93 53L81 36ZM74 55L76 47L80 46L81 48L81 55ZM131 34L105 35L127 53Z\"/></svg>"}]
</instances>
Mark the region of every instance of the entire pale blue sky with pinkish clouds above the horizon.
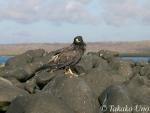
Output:
<instances>
[{"instance_id":1,"label":"entire pale blue sky with pinkish clouds above the horizon","mask_svg":"<svg viewBox=\"0 0 150 113\"><path fill-rule=\"evenodd\" d=\"M150 40L150 0L0 0L0 44Z\"/></svg>"}]
</instances>

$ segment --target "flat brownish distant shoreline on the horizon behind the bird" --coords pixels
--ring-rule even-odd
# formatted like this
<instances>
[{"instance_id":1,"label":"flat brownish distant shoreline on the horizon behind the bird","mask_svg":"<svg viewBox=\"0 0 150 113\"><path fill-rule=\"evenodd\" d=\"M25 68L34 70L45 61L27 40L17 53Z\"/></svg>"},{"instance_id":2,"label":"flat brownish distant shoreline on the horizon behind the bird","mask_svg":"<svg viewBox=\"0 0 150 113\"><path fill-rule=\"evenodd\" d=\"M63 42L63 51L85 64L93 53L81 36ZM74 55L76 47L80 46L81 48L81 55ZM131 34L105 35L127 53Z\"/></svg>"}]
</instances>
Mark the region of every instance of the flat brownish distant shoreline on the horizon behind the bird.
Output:
<instances>
[{"instance_id":1,"label":"flat brownish distant shoreline on the horizon behind the bird","mask_svg":"<svg viewBox=\"0 0 150 113\"><path fill-rule=\"evenodd\" d=\"M44 49L50 52L68 45L69 43L0 44L0 55L14 56L35 49ZM119 52L121 56L150 56L150 41L87 43L87 52L103 49Z\"/></svg>"}]
</instances>

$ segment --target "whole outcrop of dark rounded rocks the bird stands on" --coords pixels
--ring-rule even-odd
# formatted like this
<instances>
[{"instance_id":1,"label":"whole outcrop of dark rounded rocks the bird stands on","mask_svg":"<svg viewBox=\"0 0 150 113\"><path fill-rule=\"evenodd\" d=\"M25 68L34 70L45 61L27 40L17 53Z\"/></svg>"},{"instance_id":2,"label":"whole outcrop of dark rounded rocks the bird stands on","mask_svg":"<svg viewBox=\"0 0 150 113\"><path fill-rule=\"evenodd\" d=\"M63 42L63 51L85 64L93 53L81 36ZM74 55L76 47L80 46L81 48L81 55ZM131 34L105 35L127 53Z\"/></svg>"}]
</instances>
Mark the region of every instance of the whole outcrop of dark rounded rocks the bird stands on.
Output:
<instances>
[{"instance_id":1,"label":"whole outcrop of dark rounded rocks the bird stands on","mask_svg":"<svg viewBox=\"0 0 150 113\"><path fill-rule=\"evenodd\" d=\"M110 105L150 106L149 63L122 60L117 52L100 50L85 54L72 67L78 77L70 77L64 70L39 70L53 54L30 50L0 68L1 111L110 113Z\"/></svg>"}]
</instances>

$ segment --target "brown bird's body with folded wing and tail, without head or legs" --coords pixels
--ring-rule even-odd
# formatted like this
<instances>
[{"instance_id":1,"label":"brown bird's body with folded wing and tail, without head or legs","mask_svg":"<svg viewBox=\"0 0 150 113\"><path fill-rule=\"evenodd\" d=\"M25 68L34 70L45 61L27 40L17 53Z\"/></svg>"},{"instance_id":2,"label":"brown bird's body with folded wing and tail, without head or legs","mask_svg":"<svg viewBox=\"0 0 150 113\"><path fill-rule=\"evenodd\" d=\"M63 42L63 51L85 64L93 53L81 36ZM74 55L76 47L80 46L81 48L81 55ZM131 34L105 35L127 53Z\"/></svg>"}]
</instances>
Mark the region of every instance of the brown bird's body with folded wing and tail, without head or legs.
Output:
<instances>
[{"instance_id":1,"label":"brown bird's body with folded wing and tail, without head or legs","mask_svg":"<svg viewBox=\"0 0 150 113\"><path fill-rule=\"evenodd\" d=\"M74 51L72 46L62 48L56 51L52 51L53 56L47 64L39 67L36 71L42 69L59 69L69 65L75 65L81 58L81 54L78 51Z\"/></svg>"}]
</instances>

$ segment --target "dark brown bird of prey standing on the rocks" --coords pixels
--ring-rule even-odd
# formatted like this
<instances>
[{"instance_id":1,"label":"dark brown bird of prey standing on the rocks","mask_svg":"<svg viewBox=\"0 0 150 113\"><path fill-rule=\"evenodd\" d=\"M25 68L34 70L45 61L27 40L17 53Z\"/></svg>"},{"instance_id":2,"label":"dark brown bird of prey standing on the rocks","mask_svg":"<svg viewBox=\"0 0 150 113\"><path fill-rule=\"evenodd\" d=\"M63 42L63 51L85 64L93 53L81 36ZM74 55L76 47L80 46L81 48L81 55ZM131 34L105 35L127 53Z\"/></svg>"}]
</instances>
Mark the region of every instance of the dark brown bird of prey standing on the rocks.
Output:
<instances>
[{"instance_id":1,"label":"dark brown bird of prey standing on the rocks","mask_svg":"<svg viewBox=\"0 0 150 113\"><path fill-rule=\"evenodd\" d=\"M54 51L54 56L49 60L47 67L52 70L65 69L65 74L75 75L70 67L80 61L86 50L85 47L82 36L76 36L69 47Z\"/></svg>"}]
</instances>

